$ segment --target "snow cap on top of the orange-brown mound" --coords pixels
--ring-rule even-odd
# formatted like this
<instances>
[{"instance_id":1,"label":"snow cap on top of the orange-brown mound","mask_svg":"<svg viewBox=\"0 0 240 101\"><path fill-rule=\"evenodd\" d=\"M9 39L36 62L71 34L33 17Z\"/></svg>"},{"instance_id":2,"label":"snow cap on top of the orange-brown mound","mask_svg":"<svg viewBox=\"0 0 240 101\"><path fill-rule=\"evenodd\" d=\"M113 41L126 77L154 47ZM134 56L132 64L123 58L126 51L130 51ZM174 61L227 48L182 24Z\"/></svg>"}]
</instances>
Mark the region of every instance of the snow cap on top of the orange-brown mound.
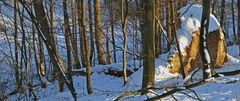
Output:
<instances>
[{"instance_id":1,"label":"snow cap on top of the orange-brown mound","mask_svg":"<svg viewBox=\"0 0 240 101\"><path fill-rule=\"evenodd\" d=\"M192 41L193 32L201 27L202 5L187 5L179 10L180 13L180 27L177 31L177 37L181 52L184 48L189 46ZM219 28L220 23L214 15L210 14L209 32L215 31Z\"/></svg>"}]
</instances>

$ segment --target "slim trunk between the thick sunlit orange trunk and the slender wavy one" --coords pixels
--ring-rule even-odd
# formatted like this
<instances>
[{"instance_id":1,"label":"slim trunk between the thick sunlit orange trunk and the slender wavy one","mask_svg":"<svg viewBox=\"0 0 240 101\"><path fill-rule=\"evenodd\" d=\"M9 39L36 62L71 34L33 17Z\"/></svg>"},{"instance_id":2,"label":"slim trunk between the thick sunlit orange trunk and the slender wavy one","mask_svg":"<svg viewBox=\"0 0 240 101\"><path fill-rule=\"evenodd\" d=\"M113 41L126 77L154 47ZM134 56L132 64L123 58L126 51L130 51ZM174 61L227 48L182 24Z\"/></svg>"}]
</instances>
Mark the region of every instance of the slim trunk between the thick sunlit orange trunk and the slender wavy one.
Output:
<instances>
[{"instance_id":1,"label":"slim trunk between the thick sunlit orange trunk and the slender wavy one","mask_svg":"<svg viewBox=\"0 0 240 101\"><path fill-rule=\"evenodd\" d=\"M114 6L113 1L110 1L110 23L111 23L111 33L112 33L112 47L113 47L113 60L114 63L117 62L117 56L116 56L116 45L115 45L115 35L114 35Z\"/></svg>"}]
</instances>

